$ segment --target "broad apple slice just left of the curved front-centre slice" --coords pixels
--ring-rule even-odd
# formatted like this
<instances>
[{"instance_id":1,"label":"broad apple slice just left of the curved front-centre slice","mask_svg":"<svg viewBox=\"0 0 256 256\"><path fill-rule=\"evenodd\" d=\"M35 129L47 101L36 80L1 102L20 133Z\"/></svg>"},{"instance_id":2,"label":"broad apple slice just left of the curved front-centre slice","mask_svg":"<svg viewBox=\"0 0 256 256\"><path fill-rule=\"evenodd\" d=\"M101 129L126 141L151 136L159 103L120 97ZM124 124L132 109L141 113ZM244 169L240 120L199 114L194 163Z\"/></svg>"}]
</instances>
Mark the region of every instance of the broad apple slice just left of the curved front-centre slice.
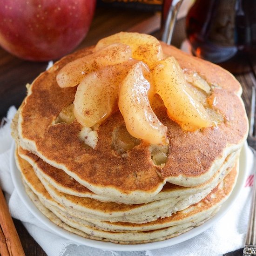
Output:
<instances>
[{"instance_id":1,"label":"broad apple slice just left of the curved front-centre slice","mask_svg":"<svg viewBox=\"0 0 256 256\"><path fill-rule=\"evenodd\" d=\"M119 84L135 62L103 67L81 81L74 97L74 116L82 126L101 123L117 108Z\"/></svg>"}]
</instances>

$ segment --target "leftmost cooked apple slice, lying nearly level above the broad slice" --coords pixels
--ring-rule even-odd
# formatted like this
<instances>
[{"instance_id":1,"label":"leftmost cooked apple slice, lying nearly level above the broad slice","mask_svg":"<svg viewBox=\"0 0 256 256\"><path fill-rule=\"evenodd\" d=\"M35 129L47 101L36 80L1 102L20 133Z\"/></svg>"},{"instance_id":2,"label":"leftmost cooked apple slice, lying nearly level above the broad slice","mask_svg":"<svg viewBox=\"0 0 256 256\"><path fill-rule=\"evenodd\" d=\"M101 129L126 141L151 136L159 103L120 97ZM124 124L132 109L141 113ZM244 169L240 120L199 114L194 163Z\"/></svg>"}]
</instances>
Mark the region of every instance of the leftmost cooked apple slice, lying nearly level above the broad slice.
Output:
<instances>
[{"instance_id":1,"label":"leftmost cooked apple slice, lying nearly level above the broad slice","mask_svg":"<svg viewBox=\"0 0 256 256\"><path fill-rule=\"evenodd\" d=\"M86 55L62 67L56 80L61 88L74 87L89 73L100 67L115 65L131 59L131 48L128 45L116 43L101 48L93 54Z\"/></svg>"}]
</instances>

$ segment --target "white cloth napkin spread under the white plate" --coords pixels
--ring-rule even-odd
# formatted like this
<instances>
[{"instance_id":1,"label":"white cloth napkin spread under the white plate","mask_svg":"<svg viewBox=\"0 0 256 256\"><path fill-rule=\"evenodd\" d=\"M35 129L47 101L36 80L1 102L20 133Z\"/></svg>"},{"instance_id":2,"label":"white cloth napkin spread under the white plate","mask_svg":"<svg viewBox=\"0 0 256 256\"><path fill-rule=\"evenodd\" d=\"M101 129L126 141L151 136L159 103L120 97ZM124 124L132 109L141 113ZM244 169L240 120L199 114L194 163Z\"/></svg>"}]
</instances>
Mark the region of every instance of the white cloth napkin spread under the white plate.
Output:
<instances>
[{"instance_id":1,"label":"white cloth napkin spread under the white plate","mask_svg":"<svg viewBox=\"0 0 256 256\"><path fill-rule=\"evenodd\" d=\"M245 186L229 212L210 229L186 242L163 249L139 252L106 251L73 243L54 234L37 220L22 203L10 176L9 157L12 137L10 122L16 109L11 107L0 128L0 186L6 192L10 212L23 222L31 236L48 256L221 256L243 247L249 216L251 187ZM248 149L250 166L253 157Z\"/></svg>"}]
</instances>

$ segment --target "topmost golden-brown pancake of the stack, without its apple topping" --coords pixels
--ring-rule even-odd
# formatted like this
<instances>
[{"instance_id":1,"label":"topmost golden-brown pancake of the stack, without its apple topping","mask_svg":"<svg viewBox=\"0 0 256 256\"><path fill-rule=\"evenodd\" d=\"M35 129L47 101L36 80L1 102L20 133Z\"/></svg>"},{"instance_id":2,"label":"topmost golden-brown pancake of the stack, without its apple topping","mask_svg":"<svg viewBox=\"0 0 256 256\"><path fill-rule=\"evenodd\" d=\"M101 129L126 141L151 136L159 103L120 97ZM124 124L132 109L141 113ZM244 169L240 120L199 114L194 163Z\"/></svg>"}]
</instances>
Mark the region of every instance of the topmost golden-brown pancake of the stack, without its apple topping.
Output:
<instances>
[{"instance_id":1,"label":"topmost golden-brown pancake of the stack, without its apple topping","mask_svg":"<svg viewBox=\"0 0 256 256\"><path fill-rule=\"evenodd\" d=\"M144 141L126 155L116 153L113 132L125 125L119 111L97 128L94 148L85 147L80 140L82 127L76 120L56 123L62 109L74 101L76 92L76 87L60 88L56 74L68 62L91 54L94 47L64 57L33 82L20 108L17 142L94 194L114 201L119 198L122 203L150 202L166 182L195 187L209 181L227 156L237 152L246 140L248 120L241 86L221 67L164 43L162 49L165 55L174 56L183 70L196 72L208 82L210 99L224 118L217 127L187 132L168 118L166 108L155 108L155 114L168 128L168 159L164 165L155 165L150 145Z\"/></svg>"}]
</instances>

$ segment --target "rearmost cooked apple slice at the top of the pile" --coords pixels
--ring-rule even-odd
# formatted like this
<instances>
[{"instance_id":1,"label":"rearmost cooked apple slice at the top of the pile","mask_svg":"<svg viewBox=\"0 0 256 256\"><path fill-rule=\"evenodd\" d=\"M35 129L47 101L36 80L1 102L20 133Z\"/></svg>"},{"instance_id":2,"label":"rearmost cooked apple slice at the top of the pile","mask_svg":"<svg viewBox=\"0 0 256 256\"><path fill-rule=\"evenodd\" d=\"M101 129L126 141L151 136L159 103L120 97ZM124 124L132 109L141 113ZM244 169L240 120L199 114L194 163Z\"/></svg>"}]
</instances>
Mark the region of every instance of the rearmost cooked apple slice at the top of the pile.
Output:
<instances>
[{"instance_id":1,"label":"rearmost cooked apple slice at the top of the pile","mask_svg":"<svg viewBox=\"0 0 256 256\"><path fill-rule=\"evenodd\" d=\"M113 43L122 43L131 47L132 57L143 61L150 68L156 61L162 60L163 53L160 42L152 35L120 32L101 39L95 49L99 50Z\"/></svg>"}]
</instances>

